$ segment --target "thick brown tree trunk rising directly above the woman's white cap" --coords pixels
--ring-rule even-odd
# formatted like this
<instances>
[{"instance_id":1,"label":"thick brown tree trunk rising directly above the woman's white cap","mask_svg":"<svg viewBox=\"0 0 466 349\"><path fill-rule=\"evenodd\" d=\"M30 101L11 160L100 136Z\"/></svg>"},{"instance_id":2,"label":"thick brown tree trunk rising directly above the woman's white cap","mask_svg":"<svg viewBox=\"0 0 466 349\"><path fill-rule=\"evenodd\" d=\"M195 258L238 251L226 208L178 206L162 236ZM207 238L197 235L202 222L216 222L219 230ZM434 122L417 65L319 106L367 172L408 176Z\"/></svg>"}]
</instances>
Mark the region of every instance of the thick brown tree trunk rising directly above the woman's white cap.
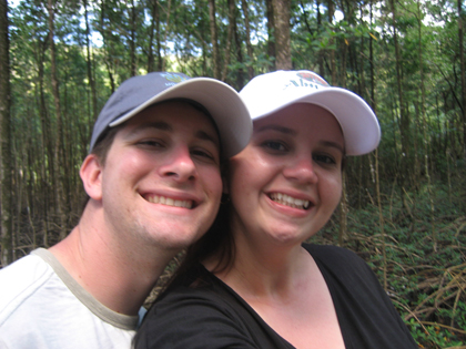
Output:
<instances>
[{"instance_id":1,"label":"thick brown tree trunk rising directly above the woman's white cap","mask_svg":"<svg viewBox=\"0 0 466 349\"><path fill-rule=\"evenodd\" d=\"M293 69L291 59L291 37L290 37L290 0L272 0L275 20L275 48L277 70Z\"/></svg>"}]
</instances>

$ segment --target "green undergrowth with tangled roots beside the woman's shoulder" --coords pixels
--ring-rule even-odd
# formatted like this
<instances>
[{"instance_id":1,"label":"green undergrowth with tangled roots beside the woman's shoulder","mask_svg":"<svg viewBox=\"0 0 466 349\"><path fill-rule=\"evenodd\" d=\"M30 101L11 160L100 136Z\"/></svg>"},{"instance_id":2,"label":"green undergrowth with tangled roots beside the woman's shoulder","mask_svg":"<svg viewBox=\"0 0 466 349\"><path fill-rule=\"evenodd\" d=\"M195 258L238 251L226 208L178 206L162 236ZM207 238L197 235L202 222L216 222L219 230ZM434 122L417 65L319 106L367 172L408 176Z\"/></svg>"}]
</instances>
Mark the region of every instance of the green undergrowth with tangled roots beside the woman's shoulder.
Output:
<instances>
[{"instance_id":1,"label":"green undergrowth with tangled roots beside the woman's shoulder","mask_svg":"<svg viewBox=\"0 0 466 349\"><path fill-rule=\"evenodd\" d=\"M460 185L460 184L458 184ZM375 203L351 208L344 247L378 276L419 348L466 349L466 193L438 185L383 198L383 229ZM313 243L337 245L338 215ZM385 240L385 259L384 244ZM385 270L385 271L384 271Z\"/></svg>"}]
</instances>

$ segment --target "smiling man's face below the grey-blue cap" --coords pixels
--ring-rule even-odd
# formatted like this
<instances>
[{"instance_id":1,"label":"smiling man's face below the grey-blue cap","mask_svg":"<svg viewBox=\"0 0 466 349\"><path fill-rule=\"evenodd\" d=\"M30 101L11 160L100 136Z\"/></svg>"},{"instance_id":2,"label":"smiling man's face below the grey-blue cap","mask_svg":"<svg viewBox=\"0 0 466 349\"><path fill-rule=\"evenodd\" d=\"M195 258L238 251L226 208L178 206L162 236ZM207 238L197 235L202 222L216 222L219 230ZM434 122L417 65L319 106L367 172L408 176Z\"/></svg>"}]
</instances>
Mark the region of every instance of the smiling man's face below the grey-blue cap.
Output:
<instances>
[{"instance_id":1,"label":"smiling man's face below the grey-blue cap","mask_svg":"<svg viewBox=\"0 0 466 349\"><path fill-rule=\"evenodd\" d=\"M120 130L100 174L109 232L181 249L212 225L222 194L220 141L211 120L184 102L142 111Z\"/></svg>"}]
</instances>

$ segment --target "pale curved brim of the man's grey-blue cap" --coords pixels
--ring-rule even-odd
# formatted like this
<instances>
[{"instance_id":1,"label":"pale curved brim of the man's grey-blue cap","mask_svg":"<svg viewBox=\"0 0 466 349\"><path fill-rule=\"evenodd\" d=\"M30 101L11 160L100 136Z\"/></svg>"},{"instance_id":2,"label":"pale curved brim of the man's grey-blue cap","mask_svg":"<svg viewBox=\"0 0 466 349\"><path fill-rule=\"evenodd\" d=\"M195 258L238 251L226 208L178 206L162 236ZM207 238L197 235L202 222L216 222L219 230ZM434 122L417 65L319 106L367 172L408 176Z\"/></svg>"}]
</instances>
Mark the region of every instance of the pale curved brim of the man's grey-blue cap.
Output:
<instances>
[{"instance_id":1,"label":"pale curved brim of the man's grey-blue cap","mask_svg":"<svg viewBox=\"0 0 466 349\"><path fill-rule=\"evenodd\" d=\"M243 101L227 84L210 78L193 78L180 82L121 115L110 126L125 122L154 103L172 99L189 99L209 111L219 130L225 157L240 153L250 142L252 122Z\"/></svg>"}]
</instances>

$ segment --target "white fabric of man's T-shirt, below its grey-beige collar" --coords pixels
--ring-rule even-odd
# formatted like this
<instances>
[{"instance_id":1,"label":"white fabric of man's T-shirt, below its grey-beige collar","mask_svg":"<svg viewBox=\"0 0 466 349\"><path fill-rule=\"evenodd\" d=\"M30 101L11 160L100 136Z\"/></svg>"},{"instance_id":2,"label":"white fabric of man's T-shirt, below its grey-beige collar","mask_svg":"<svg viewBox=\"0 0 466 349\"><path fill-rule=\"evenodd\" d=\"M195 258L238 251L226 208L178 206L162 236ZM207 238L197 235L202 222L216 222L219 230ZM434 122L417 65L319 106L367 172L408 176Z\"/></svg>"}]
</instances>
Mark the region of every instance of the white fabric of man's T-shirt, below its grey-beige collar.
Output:
<instances>
[{"instance_id":1,"label":"white fabric of man's T-shirt, below its grey-beige collar","mask_svg":"<svg viewBox=\"0 0 466 349\"><path fill-rule=\"evenodd\" d=\"M0 270L0 348L130 348L134 330L95 315L100 308L78 299L43 254Z\"/></svg>"}]
</instances>

